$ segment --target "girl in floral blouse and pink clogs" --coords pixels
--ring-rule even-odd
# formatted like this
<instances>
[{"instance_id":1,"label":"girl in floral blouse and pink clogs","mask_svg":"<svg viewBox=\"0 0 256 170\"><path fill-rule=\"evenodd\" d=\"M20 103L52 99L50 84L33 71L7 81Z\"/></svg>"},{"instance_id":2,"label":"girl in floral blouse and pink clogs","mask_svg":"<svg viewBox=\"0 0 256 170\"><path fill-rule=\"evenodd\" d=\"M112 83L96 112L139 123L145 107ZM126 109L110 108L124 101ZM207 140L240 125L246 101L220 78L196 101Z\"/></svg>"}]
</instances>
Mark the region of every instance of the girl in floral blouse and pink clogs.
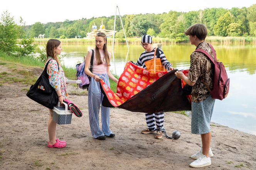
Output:
<instances>
[{"instance_id":1,"label":"girl in floral blouse and pink clogs","mask_svg":"<svg viewBox=\"0 0 256 170\"><path fill-rule=\"evenodd\" d=\"M63 100L67 96L66 77L64 71L59 63L57 55L61 54L61 42L56 39L49 39L46 44L46 57L49 64L47 66L47 74L49 75L49 82L51 86L56 90L59 97L59 102L63 104ZM66 141L60 141L56 138L56 122L52 120L52 109L50 110L50 118L48 122L48 134L49 134L49 148L64 148Z\"/></svg>"}]
</instances>

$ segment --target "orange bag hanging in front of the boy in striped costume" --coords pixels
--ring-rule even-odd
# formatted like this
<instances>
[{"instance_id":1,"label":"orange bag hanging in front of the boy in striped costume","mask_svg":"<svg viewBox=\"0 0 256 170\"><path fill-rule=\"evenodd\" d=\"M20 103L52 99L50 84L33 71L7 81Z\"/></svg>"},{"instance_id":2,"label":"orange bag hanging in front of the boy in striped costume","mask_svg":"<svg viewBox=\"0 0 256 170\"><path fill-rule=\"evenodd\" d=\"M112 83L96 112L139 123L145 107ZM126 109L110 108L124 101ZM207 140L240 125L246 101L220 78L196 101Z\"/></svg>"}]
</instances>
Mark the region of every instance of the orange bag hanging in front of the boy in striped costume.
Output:
<instances>
[{"instance_id":1,"label":"orange bag hanging in front of the boy in striped costume","mask_svg":"<svg viewBox=\"0 0 256 170\"><path fill-rule=\"evenodd\" d=\"M145 62L147 71L153 72L153 73L159 72L159 71L166 71L165 67L161 62L161 59L156 58L156 52L157 52L157 48L155 48L154 58Z\"/></svg>"}]
</instances>

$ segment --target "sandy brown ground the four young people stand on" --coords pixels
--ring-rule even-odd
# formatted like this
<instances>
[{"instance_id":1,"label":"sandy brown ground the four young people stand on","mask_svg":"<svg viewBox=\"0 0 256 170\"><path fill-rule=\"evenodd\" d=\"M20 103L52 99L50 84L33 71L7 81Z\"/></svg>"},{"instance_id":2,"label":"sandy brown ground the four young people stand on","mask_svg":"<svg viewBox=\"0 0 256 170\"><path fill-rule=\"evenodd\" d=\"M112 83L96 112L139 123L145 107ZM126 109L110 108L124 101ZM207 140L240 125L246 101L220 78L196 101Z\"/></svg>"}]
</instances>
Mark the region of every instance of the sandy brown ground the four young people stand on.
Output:
<instances>
[{"instance_id":1,"label":"sandy brown ground the four young people stand on","mask_svg":"<svg viewBox=\"0 0 256 170\"><path fill-rule=\"evenodd\" d=\"M0 73L12 72L0 65ZM37 73L37 76L38 73ZM1 79L1 78L0 78ZM66 148L47 148L49 111L27 98L30 86L3 83L0 86L0 170L188 170L190 155L201 146L200 135L192 135L190 118L165 113L164 126L170 135L181 132L178 140L141 134L145 114L111 108L111 130L115 138L93 139L89 128L88 97L69 95L82 109L83 117L72 116L69 125L57 125L56 135L66 140ZM72 86L68 91L78 91ZM256 136L211 123L213 170L256 170Z\"/></svg>"}]
</instances>

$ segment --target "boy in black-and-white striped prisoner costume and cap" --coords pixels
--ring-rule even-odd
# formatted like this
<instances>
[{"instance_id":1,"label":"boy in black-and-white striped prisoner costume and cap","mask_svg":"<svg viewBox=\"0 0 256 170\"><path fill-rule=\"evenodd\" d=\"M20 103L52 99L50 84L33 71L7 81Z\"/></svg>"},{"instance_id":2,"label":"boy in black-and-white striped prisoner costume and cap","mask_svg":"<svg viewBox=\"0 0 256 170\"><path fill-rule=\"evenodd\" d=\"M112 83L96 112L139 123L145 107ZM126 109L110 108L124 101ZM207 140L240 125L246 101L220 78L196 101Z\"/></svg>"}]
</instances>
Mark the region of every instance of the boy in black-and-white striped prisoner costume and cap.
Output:
<instances>
[{"instance_id":1,"label":"boy in black-and-white striped prisoner costume and cap","mask_svg":"<svg viewBox=\"0 0 256 170\"><path fill-rule=\"evenodd\" d=\"M152 46L152 37L150 35L143 35L141 38L141 44L140 44L145 51L141 53L140 58L135 63L137 66L142 66L144 69L147 69L145 66L145 62L149 61L154 58L154 52L155 48ZM168 62L168 60L165 57L165 54L163 54L163 50L158 50L161 62L166 70L173 70L172 64ZM157 54L156 54L157 56ZM146 122L148 128L146 130L142 130L141 133L148 134L148 133L156 133L155 138L160 139L163 137L163 133L161 130L164 130L163 128L163 112L159 113L146 113ZM156 122L156 123L155 123ZM156 128L157 125L157 128Z\"/></svg>"}]
</instances>

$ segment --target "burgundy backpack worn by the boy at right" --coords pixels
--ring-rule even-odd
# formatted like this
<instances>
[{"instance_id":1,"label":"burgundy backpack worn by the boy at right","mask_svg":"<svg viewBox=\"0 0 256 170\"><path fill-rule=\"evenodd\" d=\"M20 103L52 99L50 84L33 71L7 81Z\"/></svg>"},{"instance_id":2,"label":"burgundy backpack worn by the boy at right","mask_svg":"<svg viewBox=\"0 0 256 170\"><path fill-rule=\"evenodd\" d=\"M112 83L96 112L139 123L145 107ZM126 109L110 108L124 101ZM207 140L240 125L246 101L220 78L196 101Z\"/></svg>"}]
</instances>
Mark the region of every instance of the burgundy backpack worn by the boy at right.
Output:
<instances>
[{"instance_id":1,"label":"burgundy backpack worn by the boy at right","mask_svg":"<svg viewBox=\"0 0 256 170\"><path fill-rule=\"evenodd\" d=\"M214 73L213 73L213 86L212 90L205 84L206 88L210 91L213 99L219 99L222 100L227 97L227 94L229 93L229 78L227 77L227 72L222 64L222 62L217 61L216 52L214 48L211 46L214 60L210 56L208 52L206 52L203 49L197 49L195 52L202 52L204 53L214 64Z\"/></svg>"}]
</instances>

